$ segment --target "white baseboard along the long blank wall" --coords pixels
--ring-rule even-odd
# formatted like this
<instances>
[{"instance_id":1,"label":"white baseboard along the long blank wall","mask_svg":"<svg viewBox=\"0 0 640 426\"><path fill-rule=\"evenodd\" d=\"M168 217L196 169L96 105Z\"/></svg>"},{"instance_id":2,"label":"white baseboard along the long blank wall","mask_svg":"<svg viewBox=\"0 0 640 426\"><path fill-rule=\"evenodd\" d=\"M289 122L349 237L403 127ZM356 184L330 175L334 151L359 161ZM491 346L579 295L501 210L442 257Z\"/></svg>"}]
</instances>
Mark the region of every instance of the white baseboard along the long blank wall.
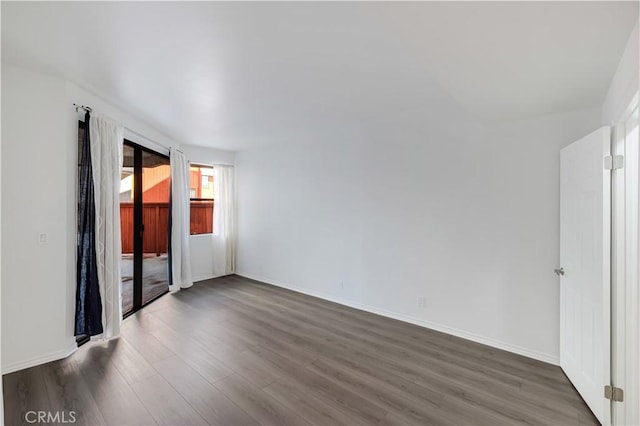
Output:
<instances>
[{"instance_id":1,"label":"white baseboard along the long blank wall","mask_svg":"<svg viewBox=\"0 0 640 426\"><path fill-rule=\"evenodd\" d=\"M411 317L404 314L398 314L396 312L387 311L384 309L377 308L375 306L369 306L358 302L353 302L350 300L344 300L340 298L336 298L332 295L321 293L317 291L312 291L303 287L298 287L291 284L285 284L281 282L277 282L274 280L270 280L263 277L258 277L253 274L247 274L244 272L236 272L236 275L241 277L249 278L256 281L261 281L267 284L274 285L276 287L286 288L287 290L295 291L297 293L303 293L309 296L317 297L320 299L328 300L330 302L338 303L340 305L349 306L350 308L359 309L361 311L370 312L372 314L381 315L383 317L393 318L399 321L404 321L410 324L418 325L421 327L425 327L431 330L440 331L442 333L451 334L456 337L461 337L463 339L471 340L476 343L481 343L483 345L491 346L493 348L502 349L505 351L513 352L518 355L526 356L528 358L533 358L538 361L543 361L553 365L560 365L560 358L555 355L549 355L543 352L539 352L533 349L523 348L521 346L513 345L511 343L506 343L497 339L493 339L491 337L481 336L476 333L470 333L468 331L460 330L454 327L449 327L446 325L434 323L431 321L425 321L419 318Z\"/></svg>"}]
</instances>

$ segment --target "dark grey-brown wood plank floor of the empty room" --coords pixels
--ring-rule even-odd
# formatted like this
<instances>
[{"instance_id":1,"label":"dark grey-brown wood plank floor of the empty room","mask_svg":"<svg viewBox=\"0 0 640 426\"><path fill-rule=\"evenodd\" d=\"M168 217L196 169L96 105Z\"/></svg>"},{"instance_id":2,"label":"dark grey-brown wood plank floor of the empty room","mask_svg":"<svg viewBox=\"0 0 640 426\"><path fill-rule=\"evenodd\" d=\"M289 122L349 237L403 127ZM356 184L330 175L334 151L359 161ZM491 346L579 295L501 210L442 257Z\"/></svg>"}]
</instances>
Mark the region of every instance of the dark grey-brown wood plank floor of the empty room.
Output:
<instances>
[{"instance_id":1,"label":"dark grey-brown wood plank floor of the empty room","mask_svg":"<svg viewBox=\"0 0 640 426\"><path fill-rule=\"evenodd\" d=\"M7 425L598 424L559 367L238 276L3 382Z\"/></svg>"}]
</instances>

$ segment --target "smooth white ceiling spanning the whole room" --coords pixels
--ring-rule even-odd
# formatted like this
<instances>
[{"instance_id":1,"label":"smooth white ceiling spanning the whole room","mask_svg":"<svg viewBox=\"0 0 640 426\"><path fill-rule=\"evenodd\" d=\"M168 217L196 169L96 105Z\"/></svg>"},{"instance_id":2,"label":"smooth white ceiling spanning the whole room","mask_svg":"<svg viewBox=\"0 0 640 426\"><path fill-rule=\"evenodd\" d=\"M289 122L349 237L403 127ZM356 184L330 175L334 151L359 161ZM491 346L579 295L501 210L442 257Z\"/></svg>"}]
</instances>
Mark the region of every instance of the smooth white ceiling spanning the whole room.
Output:
<instances>
[{"instance_id":1,"label":"smooth white ceiling spanning the whole room","mask_svg":"<svg viewBox=\"0 0 640 426\"><path fill-rule=\"evenodd\" d=\"M516 119L599 106L637 2L2 2L2 60L242 149L452 97Z\"/></svg>"}]
</instances>

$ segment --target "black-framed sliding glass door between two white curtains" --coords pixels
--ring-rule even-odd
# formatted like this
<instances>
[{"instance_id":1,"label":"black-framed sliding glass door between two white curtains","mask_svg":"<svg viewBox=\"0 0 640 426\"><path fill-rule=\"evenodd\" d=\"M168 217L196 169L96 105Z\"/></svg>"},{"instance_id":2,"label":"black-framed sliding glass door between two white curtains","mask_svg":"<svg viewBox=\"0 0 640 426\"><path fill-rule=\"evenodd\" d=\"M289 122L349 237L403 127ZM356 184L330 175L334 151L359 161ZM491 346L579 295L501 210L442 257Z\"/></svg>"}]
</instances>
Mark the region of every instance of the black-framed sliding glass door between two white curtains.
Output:
<instances>
[{"instance_id":1,"label":"black-framed sliding glass door between two white curtains","mask_svg":"<svg viewBox=\"0 0 640 426\"><path fill-rule=\"evenodd\" d=\"M169 158L125 142L120 182L122 312L169 290Z\"/></svg>"}]
</instances>

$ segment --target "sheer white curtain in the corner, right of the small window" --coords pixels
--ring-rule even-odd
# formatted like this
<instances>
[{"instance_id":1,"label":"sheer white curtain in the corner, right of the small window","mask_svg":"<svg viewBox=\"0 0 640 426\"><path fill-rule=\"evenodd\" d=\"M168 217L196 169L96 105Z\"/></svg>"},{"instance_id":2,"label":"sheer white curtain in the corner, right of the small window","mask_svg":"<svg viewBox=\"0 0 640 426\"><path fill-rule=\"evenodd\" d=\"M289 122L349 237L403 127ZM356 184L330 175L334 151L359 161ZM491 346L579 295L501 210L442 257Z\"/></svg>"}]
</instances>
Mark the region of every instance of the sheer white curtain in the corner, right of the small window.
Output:
<instances>
[{"instance_id":1,"label":"sheer white curtain in the corner, right of the small window","mask_svg":"<svg viewBox=\"0 0 640 426\"><path fill-rule=\"evenodd\" d=\"M213 271L216 276L236 271L236 192L231 166L213 168Z\"/></svg>"}]
</instances>

